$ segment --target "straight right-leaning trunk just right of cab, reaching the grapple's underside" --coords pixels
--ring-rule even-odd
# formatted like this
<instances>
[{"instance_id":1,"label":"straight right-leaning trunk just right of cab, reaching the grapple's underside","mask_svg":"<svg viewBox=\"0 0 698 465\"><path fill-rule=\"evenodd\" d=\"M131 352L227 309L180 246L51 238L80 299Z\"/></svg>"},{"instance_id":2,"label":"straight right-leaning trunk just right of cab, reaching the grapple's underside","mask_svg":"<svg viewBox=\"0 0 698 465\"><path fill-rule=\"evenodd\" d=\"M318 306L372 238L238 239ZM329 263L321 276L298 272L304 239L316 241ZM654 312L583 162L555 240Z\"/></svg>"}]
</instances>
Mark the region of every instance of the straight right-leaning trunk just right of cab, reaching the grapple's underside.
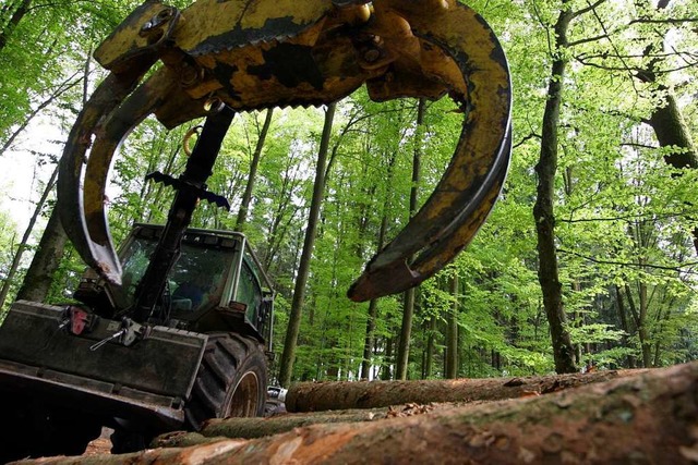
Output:
<instances>
[{"instance_id":1,"label":"straight right-leaning trunk just right of cab, reaching the grapple's underside","mask_svg":"<svg viewBox=\"0 0 698 465\"><path fill-rule=\"evenodd\" d=\"M315 235L317 232L317 221L320 219L320 207L323 203L325 191L325 168L327 164L327 154L329 149L329 136L332 135L332 125L335 118L336 103L327 106L325 111L325 125L320 142L320 150L317 154L317 164L315 167L315 183L313 185L313 198L310 204L310 215L308 218L308 229L305 230L305 240L303 242L303 252L298 268L298 278L296 279L296 287L293 290L293 299L291 301L291 314L289 316L288 329L286 331L286 340L284 341L284 353L281 354L281 367L279 369L279 383L288 387L291 383L293 375L293 362L296 359L296 345L298 343L298 333L301 327L301 310L303 301L305 299L305 285L308 284L308 276L310 273L310 260L313 255L315 244Z\"/></svg>"}]
</instances>

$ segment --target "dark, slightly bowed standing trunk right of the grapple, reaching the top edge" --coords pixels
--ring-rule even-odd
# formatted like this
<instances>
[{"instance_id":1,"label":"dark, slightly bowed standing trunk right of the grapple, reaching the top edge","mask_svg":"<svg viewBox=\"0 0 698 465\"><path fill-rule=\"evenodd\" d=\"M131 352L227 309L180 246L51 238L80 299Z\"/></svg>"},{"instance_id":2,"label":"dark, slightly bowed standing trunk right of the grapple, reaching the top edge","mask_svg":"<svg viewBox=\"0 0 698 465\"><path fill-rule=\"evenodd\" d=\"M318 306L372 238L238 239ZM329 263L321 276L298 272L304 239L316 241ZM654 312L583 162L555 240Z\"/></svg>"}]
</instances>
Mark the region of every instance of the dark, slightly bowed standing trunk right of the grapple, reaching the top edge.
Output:
<instances>
[{"instance_id":1,"label":"dark, slightly bowed standing trunk right of the grapple, reaching the top edge","mask_svg":"<svg viewBox=\"0 0 698 465\"><path fill-rule=\"evenodd\" d=\"M562 284L557 268L555 249L555 215L553 211L555 173L557 171L557 125L562 106L563 84L568 59L564 51L567 47L567 28L574 19L569 10L570 1L563 0L563 10L555 23L555 50L552 74L547 87L547 101L543 114L541 155L535 172L538 173L538 197L533 206L533 218L538 236L539 269L538 280L543 292L543 306L547 315L555 370L558 374L576 371L574 347L569 332L565 328L567 317L563 307Z\"/></svg>"}]
</instances>

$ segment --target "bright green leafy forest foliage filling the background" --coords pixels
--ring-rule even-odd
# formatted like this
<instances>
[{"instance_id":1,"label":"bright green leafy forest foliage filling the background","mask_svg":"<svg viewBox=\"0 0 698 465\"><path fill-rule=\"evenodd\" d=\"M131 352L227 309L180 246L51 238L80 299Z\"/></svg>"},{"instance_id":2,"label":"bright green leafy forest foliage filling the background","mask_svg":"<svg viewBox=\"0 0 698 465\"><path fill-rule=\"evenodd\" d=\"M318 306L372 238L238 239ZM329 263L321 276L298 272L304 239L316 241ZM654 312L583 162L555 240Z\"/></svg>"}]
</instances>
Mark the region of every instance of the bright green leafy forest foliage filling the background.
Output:
<instances>
[{"instance_id":1,"label":"bright green leafy forest foliage filling the background","mask_svg":"<svg viewBox=\"0 0 698 465\"><path fill-rule=\"evenodd\" d=\"M0 49L0 143L59 83L82 75L89 51L134 3L105 1L97 7L58 1L32 9ZM573 10L589 5L570 3ZM492 24L509 59L516 96L514 157L501 200L472 244L418 291L410 377L444 375L454 304L460 376L554 369L537 279L531 208L546 87L549 79L559 78L549 76L550 65L559 53L569 59L569 66L558 127L555 241L577 362L616 368L696 359L697 264L690 233L698 224L698 174L667 167L664 157L679 150L659 147L643 122L671 91L694 140L697 137L698 110L691 105L698 93L696 35L690 29L695 22L665 20L696 17L698 3L675 0L661 12L649 2L641 8L641 1L594 3L593 10L575 19L569 34L573 45L565 50L551 46L559 2L477 0L469 4ZM0 24L5 20L0 17ZM671 47L664 44L666 37ZM648 57L648 49L653 54ZM651 65L655 79L638 79L638 73ZM91 82L98 79L95 74ZM82 106L80 87L61 94L41 115L70 125ZM345 293L365 261L409 218L416 148L423 152L420 205L438 182L462 124L454 109L448 98L428 102L424 126L418 131L414 99L376 103L361 89L339 103L296 379L359 376L369 306L349 302ZM194 225L236 228L264 117L253 112L236 118L209 180L208 188L229 198L231 211L202 204ZM145 174L157 170L179 175L185 163L182 138L198 123L165 131L148 119L123 145L109 189L117 243L135 221L165 221L172 192L145 182ZM277 355L303 246L322 124L317 109L275 110L244 225L279 291ZM0 230L0 250L4 269L12 252L5 230ZM68 253L50 299L67 298L81 272L82 265ZM460 282L457 296L448 290L453 273ZM392 372L401 306L401 296L377 302L372 375Z\"/></svg>"}]
</instances>

